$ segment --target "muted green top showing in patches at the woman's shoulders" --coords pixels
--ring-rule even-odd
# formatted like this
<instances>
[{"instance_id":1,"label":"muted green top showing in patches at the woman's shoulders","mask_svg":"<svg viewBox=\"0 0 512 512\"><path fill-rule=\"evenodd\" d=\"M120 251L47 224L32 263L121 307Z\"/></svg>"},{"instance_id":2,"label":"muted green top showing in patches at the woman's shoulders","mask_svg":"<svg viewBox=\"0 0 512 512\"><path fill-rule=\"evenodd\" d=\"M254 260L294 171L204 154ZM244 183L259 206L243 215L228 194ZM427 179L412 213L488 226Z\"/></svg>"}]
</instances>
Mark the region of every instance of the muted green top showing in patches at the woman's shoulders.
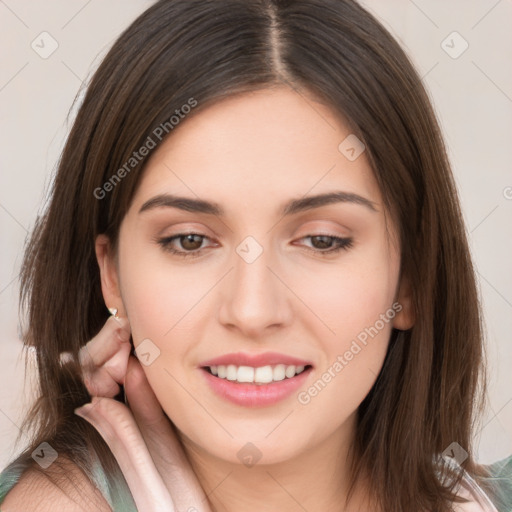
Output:
<instances>
[{"instance_id":1,"label":"muted green top showing in patches at the woman's shoulders","mask_svg":"<svg viewBox=\"0 0 512 512\"><path fill-rule=\"evenodd\" d=\"M33 462L31 457L28 460L18 458L0 473L0 505L31 462ZM485 480L493 489L493 496L488 496L488 499L495 505L498 512L512 512L512 455L484 467L490 472L490 476ZM93 473L96 487L101 491L113 512L137 512L125 482L117 482L111 486L99 461L95 463ZM480 491L483 493L482 489Z\"/></svg>"}]
</instances>

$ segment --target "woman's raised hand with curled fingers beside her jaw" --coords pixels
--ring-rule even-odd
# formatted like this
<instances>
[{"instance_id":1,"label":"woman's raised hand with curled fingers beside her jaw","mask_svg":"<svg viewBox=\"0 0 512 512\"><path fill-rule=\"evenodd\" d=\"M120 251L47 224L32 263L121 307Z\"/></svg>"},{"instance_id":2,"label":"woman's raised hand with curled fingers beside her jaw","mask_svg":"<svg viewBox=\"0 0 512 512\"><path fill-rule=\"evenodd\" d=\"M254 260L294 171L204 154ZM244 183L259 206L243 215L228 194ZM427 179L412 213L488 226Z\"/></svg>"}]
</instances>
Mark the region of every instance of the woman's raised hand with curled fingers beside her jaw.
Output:
<instances>
[{"instance_id":1,"label":"woman's raised hand with curled fingers beside her jaw","mask_svg":"<svg viewBox=\"0 0 512 512\"><path fill-rule=\"evenodd\" d=\"M140 363L129 355L130 343L124 341L129 339L127 322L118 322L109 318L83 347L84 380L95 396L75 413L94 426L112 450L138 510L210 512L172 423ZM119 329L128 335L123 338ZM110 398L119 392L119 384L124 384L131 410Z\"/></svg>"}]
</instances>

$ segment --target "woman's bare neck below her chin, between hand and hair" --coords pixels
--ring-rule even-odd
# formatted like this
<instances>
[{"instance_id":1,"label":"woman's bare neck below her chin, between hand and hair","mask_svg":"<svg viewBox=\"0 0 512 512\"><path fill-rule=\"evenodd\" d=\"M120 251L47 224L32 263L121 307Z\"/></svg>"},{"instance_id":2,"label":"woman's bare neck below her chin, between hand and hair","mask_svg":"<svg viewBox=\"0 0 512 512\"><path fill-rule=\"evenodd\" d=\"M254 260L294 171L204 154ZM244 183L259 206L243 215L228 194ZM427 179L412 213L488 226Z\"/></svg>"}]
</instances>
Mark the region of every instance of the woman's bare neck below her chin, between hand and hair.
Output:
<instances>
[{"instance_id":1,"label":"woman's bare neck below her chin, between hand and hair","mask_svg":"<svg viewBox=\"0 0 512 512\"><path fill-rule=\"evenodd\" d=\"M368 499L368 487L363 482L356 482L350 502L345 505L354 424L355 416L340 430L318 443L311 442L308 450L291 459L252 467L216 457L183 434L180 438L214 512L253 512L262 508L281 512L377 510L362 507Z\"/></svg>"}]
</instances>

